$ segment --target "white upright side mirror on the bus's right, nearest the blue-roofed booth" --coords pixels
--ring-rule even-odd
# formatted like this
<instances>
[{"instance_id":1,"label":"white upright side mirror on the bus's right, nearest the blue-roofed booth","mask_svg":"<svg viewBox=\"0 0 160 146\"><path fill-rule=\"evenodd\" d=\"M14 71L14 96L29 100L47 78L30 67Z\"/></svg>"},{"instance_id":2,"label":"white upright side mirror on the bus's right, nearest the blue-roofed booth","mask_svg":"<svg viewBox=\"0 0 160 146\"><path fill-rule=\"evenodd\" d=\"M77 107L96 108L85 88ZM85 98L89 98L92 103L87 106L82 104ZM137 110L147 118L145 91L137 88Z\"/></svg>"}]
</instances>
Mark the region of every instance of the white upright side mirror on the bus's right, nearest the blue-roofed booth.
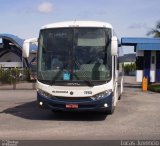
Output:
<instances>
[{"instance_id":1,"label":"white upright side mirror on the bus's right, nearest the blue-roofed booth","mask_svg":"<svg viewBox=\"0 0 160 146\"><path fill-rule=\"evenodd\" d=\"M112 56L118 55L118 39L116 36L113 36L111 39L111 55Z\"/></svg>"}]
</instances>

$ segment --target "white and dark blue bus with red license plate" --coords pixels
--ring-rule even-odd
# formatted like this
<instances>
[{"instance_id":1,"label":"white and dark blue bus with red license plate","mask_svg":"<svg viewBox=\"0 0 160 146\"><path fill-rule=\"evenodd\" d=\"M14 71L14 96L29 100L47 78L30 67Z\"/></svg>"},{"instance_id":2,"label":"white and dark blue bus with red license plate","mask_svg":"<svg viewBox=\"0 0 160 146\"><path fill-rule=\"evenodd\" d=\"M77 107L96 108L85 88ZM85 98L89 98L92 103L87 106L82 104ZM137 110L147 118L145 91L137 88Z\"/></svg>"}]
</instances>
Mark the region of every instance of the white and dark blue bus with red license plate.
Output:
<instances>
[{"instance_id":1,"label":"white and dark blue bus with red license plate","mask_svg":"<svg viewBox=\"0 0 160 146\"><path fill-rule=\"evenodd\" d=\"M43 26L38 39L38 104L54 112L112 114L123 92L118 54L118 40L109 23L71 21Z\"/></svg>"}]
</instances>

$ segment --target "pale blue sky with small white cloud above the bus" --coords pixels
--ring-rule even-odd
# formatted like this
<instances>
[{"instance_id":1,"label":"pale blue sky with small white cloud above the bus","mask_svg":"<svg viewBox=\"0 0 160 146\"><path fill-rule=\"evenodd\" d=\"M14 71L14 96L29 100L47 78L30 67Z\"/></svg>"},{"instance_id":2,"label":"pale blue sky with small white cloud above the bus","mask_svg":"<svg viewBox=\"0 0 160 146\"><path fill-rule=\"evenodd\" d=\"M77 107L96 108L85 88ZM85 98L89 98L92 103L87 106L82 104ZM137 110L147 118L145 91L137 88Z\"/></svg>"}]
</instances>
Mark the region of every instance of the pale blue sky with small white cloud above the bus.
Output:
<instances>
[{"instance_id":1,"label":"pale blue sky with small white cloud above the bus","mask_svg":"<svg viewBox=\"0 0 160 146\"><path fill-rule=\"evenodd\" d=\"M48 23L98 20L111 23L119 38L148 37L159 6L160 0L0 0L0 33L31 38Z\"/></svg>"}]
</instances>

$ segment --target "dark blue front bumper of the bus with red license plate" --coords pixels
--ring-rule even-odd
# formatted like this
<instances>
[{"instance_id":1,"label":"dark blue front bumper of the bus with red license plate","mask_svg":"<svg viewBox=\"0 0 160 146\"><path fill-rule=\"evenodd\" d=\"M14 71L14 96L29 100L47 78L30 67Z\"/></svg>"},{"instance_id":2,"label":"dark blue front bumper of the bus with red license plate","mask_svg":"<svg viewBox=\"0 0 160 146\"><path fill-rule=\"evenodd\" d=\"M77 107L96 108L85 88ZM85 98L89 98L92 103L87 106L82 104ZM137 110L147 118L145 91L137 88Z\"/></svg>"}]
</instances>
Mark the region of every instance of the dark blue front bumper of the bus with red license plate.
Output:
<instances>
[{"instance_id":1,"label":"dark blue front bumper of the bus with red license plate","mask_svg":"<svg viewBox=\"0 0 160 146\"><path fill-rule=\"evenodd\" d=\"M92 100L89 97L47 97L37 92L38 105L52 111L107 111L112 108L113 93L102 99Z\"/></svg>"}]
</instances>

